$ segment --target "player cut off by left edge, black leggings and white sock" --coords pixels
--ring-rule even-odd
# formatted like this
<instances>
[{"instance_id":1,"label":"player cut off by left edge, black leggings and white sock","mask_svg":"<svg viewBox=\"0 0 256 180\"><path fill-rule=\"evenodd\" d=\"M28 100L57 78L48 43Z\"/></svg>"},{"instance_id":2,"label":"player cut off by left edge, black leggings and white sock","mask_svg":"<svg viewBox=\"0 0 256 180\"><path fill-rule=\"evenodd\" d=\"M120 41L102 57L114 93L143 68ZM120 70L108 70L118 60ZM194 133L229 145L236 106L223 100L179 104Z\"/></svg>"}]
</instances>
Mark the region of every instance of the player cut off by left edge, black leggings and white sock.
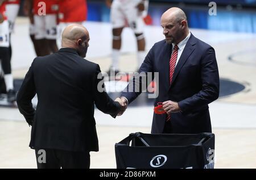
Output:
<instances>
[{"instance_id":1,"label":"player cut off by left edge, black leggings and white sock","mask_svg":"<svg viewBox=\"0 0 256 180\"><path fill-rule=\"evenodd\" d=\"M0 0L0 60L5 79L7 101L16 101L16 93L13 85L13 75L11 74L11 61L9 55L10 32L6 17L6 1Z\"/></svg>"}]
</instances>

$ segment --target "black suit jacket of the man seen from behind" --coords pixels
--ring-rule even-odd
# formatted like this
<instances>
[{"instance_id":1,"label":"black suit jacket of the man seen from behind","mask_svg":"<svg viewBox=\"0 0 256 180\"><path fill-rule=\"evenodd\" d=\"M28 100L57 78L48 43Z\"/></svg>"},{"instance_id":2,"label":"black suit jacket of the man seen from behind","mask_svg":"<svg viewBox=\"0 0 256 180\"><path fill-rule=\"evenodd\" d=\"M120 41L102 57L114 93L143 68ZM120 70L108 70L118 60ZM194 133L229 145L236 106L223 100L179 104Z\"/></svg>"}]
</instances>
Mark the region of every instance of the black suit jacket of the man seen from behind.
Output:
<instances>
[{"instance_id":1,"label":"black suit jacket of the man seen from behind","mask_svg":"<svg viewBox=\"0 0 256 180\"><path fill-rule=\"evenodd\" d=\"M71 48L35 58L17 95L19 111L32 125L31 148L98 151L94 103L110 115L120 108L105 91L97 90L100 72L98 64ZM35 94L36 110L31 103Z\"/></svg>"}]
</instances>

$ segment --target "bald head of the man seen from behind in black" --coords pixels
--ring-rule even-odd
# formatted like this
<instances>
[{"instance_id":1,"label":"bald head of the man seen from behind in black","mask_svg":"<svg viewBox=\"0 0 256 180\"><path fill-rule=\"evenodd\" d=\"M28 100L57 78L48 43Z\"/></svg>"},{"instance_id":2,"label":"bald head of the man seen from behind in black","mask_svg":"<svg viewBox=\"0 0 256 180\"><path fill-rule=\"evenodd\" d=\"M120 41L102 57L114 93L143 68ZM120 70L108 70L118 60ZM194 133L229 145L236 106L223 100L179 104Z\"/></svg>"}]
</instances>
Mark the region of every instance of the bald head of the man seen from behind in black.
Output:
<instances>
[{"instance_id":1,"label":"bald head of the man seen from behind in black","mask_svg":"<svg viewBox=\"0 0 256 180\"><path fill-rule=\"evenodd\" d=\"M86 55L89 47L89 32L81 24L71 24L67 26L61 36L61 46L65 48L73 48L79 52L80 56ZM84 52L86 50L86 52ZM85 53L85 54L84 54Z\"/></svg>"}]
</instances>

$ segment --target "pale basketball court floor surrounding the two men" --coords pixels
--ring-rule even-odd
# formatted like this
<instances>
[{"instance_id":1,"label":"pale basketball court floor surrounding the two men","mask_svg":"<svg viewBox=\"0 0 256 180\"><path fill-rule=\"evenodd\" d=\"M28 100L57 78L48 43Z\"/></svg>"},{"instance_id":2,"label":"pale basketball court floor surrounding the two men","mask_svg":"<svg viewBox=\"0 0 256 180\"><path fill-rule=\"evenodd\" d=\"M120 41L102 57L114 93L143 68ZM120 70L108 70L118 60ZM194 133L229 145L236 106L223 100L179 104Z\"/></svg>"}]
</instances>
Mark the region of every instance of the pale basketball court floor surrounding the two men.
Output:
<instances>
[{"instance_id":1,"label":"pale basketball court floor surrounding the two men","mask_svg":"<svg viewBox=\"0 0 256 180\"><path fill-rule=\"evenodd\" d=\"M111 63L112 35L109 23L86 22L90 47L86 59L100 64L107 72ZM256 35L191 29L193 35L212 45L216 51L221 78L221 97L209 104L215 134L215 168L256 168ZM162 28L147 26L146 49L164 39ZM129 28L123 31L121 71L137 69L135 37ZM13 42L13 72L24 78L35 57L28 36L28 20L16 20ZM106 82L114 99L126 82ZM36 168L35 152L28 147L30 130L15 107L0 106L0 168ZM1 105L0 103L0 105ZM36 101L35 101L36 103ZM129 133L150 133L153 115L151 101L142 98L113 119L95 111L100 152L91 152L91 168L116 168L114 144Z\"/></svg>"}]
</instances>

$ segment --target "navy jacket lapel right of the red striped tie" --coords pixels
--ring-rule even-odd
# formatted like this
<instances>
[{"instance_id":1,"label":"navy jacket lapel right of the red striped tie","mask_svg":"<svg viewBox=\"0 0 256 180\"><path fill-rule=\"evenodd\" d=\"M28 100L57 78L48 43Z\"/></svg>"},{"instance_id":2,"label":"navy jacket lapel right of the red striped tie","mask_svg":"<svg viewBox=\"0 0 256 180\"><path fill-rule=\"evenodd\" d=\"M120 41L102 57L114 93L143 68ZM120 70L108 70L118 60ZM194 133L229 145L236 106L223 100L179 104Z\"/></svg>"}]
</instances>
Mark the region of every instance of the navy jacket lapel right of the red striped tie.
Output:
<instances>
[{"instance_id":1,"label":"navy jacket lapel right of the red striped tie","mask_svg":"<svg viewBox=\"0 0 256 180\"><path fill-rule=\"evenodd\" d=\"M183 52L179 58L179 61L175 67L174 70L174 77L172 77L172 82L175 81L175 78L177 77L177 74L179 74L180 69L182 66L185 64L187 61L188 57L192 54L192 52L195 50L195 45L196 44L196 39L195 37L191 34L191 36L188 39L187 44L185 45L185 48L183 49ZM172 84L171 84L172 85ZM171 86L170 86L171 87Z\"/></svg>"}]
</instances>

